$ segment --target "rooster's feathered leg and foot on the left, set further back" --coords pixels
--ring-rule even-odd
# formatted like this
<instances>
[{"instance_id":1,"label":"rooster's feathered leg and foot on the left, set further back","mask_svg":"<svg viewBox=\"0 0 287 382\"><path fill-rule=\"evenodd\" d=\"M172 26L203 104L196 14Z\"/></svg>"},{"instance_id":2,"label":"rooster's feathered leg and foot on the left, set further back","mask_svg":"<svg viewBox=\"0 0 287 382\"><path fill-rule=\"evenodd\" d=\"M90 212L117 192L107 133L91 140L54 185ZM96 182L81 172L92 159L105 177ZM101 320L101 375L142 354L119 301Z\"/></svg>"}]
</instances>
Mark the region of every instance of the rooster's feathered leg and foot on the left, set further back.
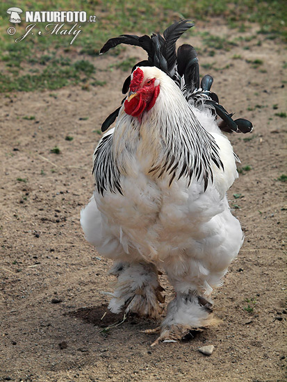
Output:
<instances>
[{"instance_id":1,"label":"rooster's feathered leg and foot on the left, set further back","mask_svg":"<svg viewBox=\"0 0 287 382\"><path fill-rule=\"evenodd\" d=\"M115 292L110 295L108 308L113 313L136 313L141 317L158 318L163 312L165 297L161 294L163 288L158 283L158 271L147 263L117 263L111 269L111 274L117 276Z\"/></svg>"}]
</instances>

